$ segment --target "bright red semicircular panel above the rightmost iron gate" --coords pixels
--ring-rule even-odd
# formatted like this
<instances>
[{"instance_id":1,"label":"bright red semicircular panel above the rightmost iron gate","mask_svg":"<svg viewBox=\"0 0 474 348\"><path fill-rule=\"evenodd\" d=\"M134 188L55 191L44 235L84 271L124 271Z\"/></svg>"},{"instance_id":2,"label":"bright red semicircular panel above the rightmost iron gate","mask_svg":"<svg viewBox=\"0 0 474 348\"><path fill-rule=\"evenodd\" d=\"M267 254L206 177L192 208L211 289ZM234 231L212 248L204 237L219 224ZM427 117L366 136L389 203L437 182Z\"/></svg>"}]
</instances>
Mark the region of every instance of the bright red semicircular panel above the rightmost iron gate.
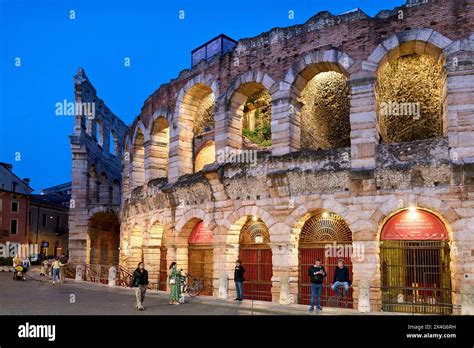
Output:
<instances>
[{"instance_id":1,"label":"bright red semicircular panel above the rightmost iron gate","mask_svg":"<svg viewBox=\"0 0 474 348\"><path fill-rule=\"evenodd\" d=\"M403 210L385 223L381 239L447 240L448 231L436 215L426 210Z\"/></svg>"}]
</instances>

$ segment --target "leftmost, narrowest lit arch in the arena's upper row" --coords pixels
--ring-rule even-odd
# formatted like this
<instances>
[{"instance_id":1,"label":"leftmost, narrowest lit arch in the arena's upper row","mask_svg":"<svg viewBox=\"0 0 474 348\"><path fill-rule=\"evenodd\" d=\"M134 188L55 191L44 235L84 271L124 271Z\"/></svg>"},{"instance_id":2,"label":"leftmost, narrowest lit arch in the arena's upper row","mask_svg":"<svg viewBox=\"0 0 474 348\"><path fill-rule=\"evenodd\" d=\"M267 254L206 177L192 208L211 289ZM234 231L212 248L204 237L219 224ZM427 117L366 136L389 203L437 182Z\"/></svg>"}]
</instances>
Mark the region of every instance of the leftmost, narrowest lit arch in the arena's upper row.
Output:
<instances>
[{"instance_id":1,"label":"leftmost, narrowest lit arch in the arena's upper row","mask_svg":"<svg viewBox=\"0 0 474 348\"><path fill-rule=\"evenodd\" d=\"M131 186L132 189L145 184L145 135L147 134L142 121L138 121L131 144Z\"/></svg>"}]
</instances>

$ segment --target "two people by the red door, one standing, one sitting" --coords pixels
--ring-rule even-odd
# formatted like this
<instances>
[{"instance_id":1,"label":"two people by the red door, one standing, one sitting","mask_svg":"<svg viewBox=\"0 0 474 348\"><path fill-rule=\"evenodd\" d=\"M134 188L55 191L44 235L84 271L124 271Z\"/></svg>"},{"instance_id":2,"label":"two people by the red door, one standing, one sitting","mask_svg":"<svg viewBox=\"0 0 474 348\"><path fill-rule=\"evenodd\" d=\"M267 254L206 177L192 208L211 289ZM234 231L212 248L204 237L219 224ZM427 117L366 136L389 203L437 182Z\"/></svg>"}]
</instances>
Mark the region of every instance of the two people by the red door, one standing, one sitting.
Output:
<instances>
[{"instance_id":1,"label":"two people by the red door, one standing, one sitting","mask_svg":"<svg viewBox=\"0 0 474 348\"><path fill-rule=\"evenodd\" d=\"M309 306L310 313L314 312L314 301L317 297L317 304L316 308L318 311L322 310L321 307L321 296L323 293L323 282L324 278L326 277L326 270L324 266L321 265L321 259L316 259L314 265L312 265L308 269L308 275L311 281L311 302ZM349 269L344 264L343 259L339 259L337 261L337 267L334 270L334 278L331 285L331 289L339 295L340 288L344 288L343 296L347 297L347 293L349 291L349 286L351 285L351 281L349 279Z\"/></svg>"}]
</instances>

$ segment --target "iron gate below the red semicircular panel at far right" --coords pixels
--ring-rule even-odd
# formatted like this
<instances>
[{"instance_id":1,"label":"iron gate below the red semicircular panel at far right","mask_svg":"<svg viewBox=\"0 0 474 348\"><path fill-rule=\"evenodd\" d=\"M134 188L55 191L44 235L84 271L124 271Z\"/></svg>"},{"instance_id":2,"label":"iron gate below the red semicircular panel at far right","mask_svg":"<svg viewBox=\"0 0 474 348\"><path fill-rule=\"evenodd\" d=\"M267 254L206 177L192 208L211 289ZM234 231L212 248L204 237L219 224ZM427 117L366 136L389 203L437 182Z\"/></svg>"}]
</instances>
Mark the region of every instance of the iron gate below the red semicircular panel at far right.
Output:
<instances>
[{"instance_id":1,"label":"iron gate below the red semicircular panel at far right","mask_svg":"<svg viewBox=\"0 0 474 348\"><path fill-rule=\"evenodd\" d=\"M382 309L452 314L447 241L381 242Z\"/></svg>"}]
</instances>

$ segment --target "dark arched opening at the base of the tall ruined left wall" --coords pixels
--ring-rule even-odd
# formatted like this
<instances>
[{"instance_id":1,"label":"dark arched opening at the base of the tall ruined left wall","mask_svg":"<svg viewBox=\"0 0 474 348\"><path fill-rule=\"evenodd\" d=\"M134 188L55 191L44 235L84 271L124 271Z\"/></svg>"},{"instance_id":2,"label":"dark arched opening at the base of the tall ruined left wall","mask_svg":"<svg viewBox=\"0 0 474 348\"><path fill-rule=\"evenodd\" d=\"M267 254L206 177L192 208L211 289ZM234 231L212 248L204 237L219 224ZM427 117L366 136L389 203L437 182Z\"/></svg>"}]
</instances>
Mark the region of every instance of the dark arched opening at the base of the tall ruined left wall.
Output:
<instances>
[{"instance_id":1,"label":"dark arched opening at the base of the tall ruined left wall","mask_svg":"<svg viewBox=\"0 0 474 348\"><path fill-rule=\"evenodd\" d=\"M89 264L117 266L119 262L120 222L111 212L94 214L87 226Z\"/></svg>"}]
</instances>

